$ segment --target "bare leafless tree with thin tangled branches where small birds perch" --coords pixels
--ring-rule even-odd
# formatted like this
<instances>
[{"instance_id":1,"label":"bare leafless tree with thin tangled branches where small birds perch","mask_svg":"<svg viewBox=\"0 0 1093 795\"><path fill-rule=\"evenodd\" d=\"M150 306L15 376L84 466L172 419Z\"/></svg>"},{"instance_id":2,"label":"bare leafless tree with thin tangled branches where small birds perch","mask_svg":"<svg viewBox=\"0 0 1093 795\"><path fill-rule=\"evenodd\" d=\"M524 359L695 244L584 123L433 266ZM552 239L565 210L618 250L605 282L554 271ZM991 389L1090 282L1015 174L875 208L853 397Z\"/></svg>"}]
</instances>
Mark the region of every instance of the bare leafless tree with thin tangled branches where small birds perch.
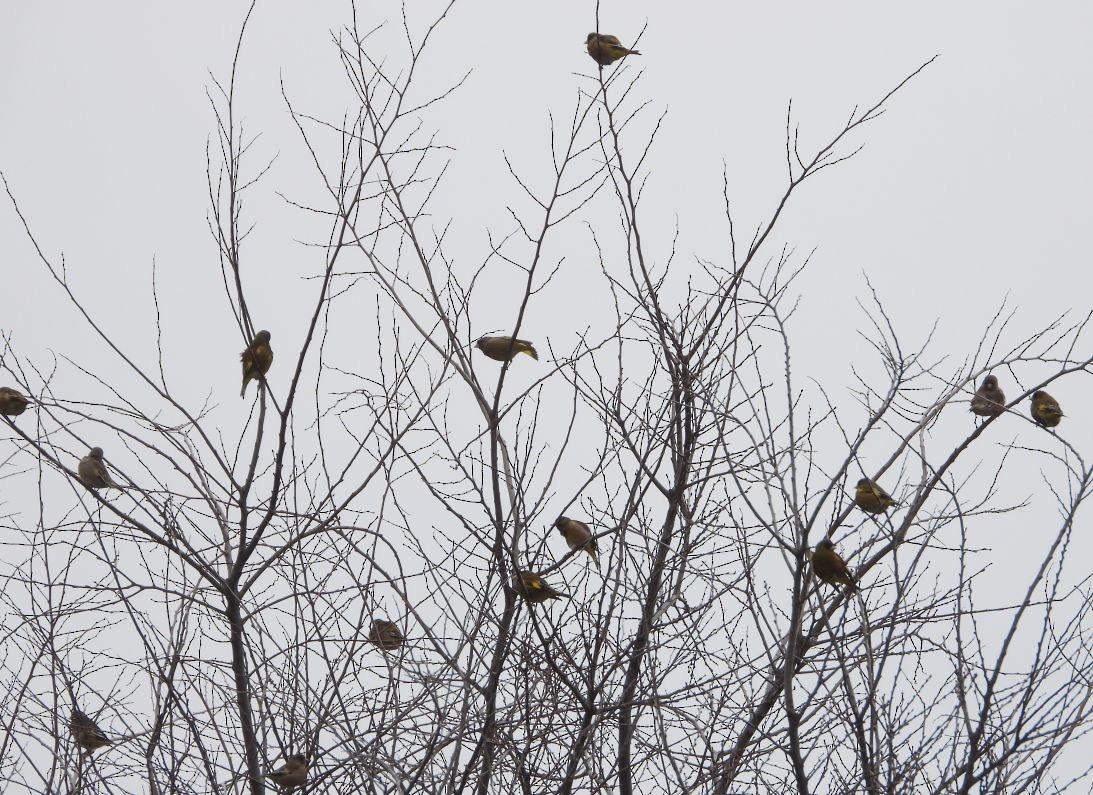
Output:
<instances>
[{"instance_id":1,"label":"bare leafless tree with thin tangled branches where small birds perch","mask_svg":"<svg viewBox=\"0 0 1093 795\"><path fill-rule=\"evenodd\" d=\"M954 353L908 344L865 282L875 359L857 387L795 373L808 257L776 242L783 211L930 61L815 151L790 108L781 197L744 242L726 184L725 257L694 268L643 235L662 117L627 61L593 65L551 121L549 178L506 160L512 224L468 268L430 209L456 154L427 119L462 80L433 89L423 54L453 9L424 30L403 15L402 60L351 11L334 46L355 112L317 118L284 92L324 194L286 200L327 223L301 339L269 328L245 256L267 165L235 67L210 91L225 303L238 348L266 328L275 352L239 423L234 396L178 397L162 346L145 362L105 330L68 280L79 264L47 253L4 182L59 300L111 352L47 366L15 334L0 359L33 404L4 418L0 470L17 495L10 791L257 794L294 755L308 793L1088 790L1091 592L1067 552L1093 472L1025 407L1090 372L1089 317L1022 335L1002 307ZM529 336L577 252L610 296L579 342L479 353L484 335ZM507 289L506 326L483 327ZM176 307L154 280L153 299L158 339ZM329 344L349 332L359 344ZM1007 410L973 422L987 373ZM122 488L81 482L92 447ZM898 504L861 511L861 478ZM1000 488L1014 478L1041 479L1054 510ZM588 525L597 563L561 515ZM1004 604L980 587L998 517L1037 528ZM822 539L857 589L814 576ZM520 572L563 596L527 598ZM80 749L75 708L111 746Z\"/></svg>"}]
</instances>

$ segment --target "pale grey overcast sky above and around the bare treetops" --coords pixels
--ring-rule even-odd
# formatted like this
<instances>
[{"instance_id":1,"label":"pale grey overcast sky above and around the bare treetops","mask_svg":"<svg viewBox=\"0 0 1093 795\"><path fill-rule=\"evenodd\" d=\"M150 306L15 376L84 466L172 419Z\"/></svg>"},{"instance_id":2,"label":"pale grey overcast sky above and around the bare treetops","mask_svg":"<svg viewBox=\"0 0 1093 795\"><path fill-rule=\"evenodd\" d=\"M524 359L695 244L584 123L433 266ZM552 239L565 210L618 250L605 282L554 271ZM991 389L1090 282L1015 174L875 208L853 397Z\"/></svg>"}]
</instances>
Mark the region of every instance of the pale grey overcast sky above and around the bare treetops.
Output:
<instances>
[{"instance_id":1,"label":"pale grey overcast sky above and around the bare treetops","mask_svg":"<svg viewBox=\"0 0 1093 795\"><path fill-rule=\"evenodd\" d=\"M438 8L413 5L416 23ZM251 173L275 157L245 207L256 229L244 256L252 279L266 282L251 305L257 323L273 331L275 350L298 340L306 319L294 312L299 279L321 264L321 253L301 241L325 238L321 223L277 196L304 203L322 196L279 81L298 109L341 118L352 97L330 37L348 7L259 0L244 43L238 110L246 131L260 133ZM210 73L228 74L246 8L224 0L57 0L0 10L0 171L47 254L63 253L75 289L150 364L155 259L169 296L172 375L195 401L210 391L231 401L238 389L242 341L207 226L205 145L215 139L205 92ZM580 75L593 73L584 51L592 9L572 0L459 2L419 67L426 90L471 72L427 117L442 131L439 142L455 148L433 211L438 229L454 221L458 266L481 261L485 230L507 232L506 204L524 201L503 153L540 185L546 178L548 114L565 125L588 84ZM362 3L361 13L392 23L377 46L404 59L396 48L397 5ZM649 250L661 257L678 224L678 257L689 268L695 258L728 261L722 164L744 238L784 190L790 98L808 152L855 105L872 104L940 54L851 139L866 143L856 159L796 196L769 249L816 249L798 282L799 376L824 376L838 395L850 384L851 362L880 372L857 334L865 327L856 304L867 299L862 273L908 343L939 321L939 356L968 353L1007 295L1019 308L1013 340L1067 309L1089 311L1093 5L633 0L606 2L601 14L601 30L625 43L647 25L644 55L631 65L643 70L637 91L649 103L640 129L667 116L649 160L643 218ZM609 198L589 212L613 231ZM579 223L553 245L549 256L564 255L567 266L556 288L532 304L524 336L540 350L548 340L568 350L600 306L595 291L581 289L580 269L596 264ZM21 353L44 365L55 351L84 366L113 366L47 279L5 197L0 271L0 330L13 335ZM505 326L506 308L501 295L497 306L483 306L480 331ZM1068 439L1089 449L1088 377L1062 382L1053 394L1068 413ZM966 431L971 420L960 421ZM1049 505L1045 511L1054 527ZM1018 566L1012 545L1000 546L1000 562L1009 556Z\"/></svg>"}]
</instances>

